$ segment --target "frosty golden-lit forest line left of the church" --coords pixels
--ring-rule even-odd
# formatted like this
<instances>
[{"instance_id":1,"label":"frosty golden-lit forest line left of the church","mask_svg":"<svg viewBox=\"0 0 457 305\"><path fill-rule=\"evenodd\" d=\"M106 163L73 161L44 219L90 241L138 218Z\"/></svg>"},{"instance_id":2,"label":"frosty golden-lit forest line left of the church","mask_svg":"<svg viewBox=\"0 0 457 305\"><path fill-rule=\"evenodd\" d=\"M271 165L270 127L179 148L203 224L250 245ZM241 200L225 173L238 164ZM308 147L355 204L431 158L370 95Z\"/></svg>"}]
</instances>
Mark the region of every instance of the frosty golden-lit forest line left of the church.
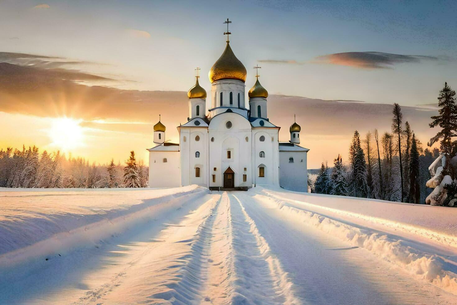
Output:
<instances>
[{"instance_id":1,"label":"frosty golden-lit forest line left of the church","mask_svg":"<svg viewBox=\"0 0 457 305\"><path fill-rule=\"evenodd\" d=\"M148 167L137 164L134 151L125 166L90 163L84 158L67 158L59 151L39 152L36 146L22 150L0 150L0 187L30 188L114 188L147 187Z\"/></svg>"}]
</instances>

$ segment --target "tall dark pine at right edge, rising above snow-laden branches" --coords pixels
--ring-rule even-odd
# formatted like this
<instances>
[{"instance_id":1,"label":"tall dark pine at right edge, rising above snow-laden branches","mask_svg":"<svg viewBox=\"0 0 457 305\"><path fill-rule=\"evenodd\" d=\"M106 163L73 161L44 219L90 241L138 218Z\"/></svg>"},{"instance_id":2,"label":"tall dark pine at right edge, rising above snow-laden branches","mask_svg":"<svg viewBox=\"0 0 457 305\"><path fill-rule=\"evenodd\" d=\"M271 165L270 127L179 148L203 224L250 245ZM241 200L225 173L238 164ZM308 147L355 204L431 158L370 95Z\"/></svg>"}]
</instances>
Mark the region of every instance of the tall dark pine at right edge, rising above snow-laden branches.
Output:
<instances>
[{"instance_id":1,"label":"tall dark pine at right edge, rising above snow-laden branches","mask_svg":"<svg viewBox=\"0 0 457 305\"><path fill-rule=\"evenodd\" d=\"M430 128L440 126L442 129L436 136L430 139L428 146L433 145L441 139L440 150L442 153L450 154L452 152L452 137L457 136L457 106L455 104L456 91L444 83L443 89L438 96L439 115L431 117L433 120L429 124Z\"/></svg>"}]
</instances>

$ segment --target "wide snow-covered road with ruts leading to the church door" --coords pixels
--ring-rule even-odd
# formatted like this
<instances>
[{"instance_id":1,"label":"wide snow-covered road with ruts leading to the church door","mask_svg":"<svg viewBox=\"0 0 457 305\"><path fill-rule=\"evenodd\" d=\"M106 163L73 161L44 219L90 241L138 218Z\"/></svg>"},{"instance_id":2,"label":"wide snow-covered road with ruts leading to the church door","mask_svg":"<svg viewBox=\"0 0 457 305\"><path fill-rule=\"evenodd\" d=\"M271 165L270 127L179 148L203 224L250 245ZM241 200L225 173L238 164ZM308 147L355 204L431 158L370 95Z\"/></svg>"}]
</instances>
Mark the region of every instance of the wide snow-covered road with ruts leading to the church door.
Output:
<instances>
[{"instance_id":1,"label":"wide snow-covered road with ruts leading to the church door","mask_svg":"<svg viewBox=\"0 0 457 305\"><path fill-rule=\"evenodd\" d=\"M186 193L153 208L96 246L3 266L0 302L457 304L264 193Z\"/></svg>"}]
</instances>

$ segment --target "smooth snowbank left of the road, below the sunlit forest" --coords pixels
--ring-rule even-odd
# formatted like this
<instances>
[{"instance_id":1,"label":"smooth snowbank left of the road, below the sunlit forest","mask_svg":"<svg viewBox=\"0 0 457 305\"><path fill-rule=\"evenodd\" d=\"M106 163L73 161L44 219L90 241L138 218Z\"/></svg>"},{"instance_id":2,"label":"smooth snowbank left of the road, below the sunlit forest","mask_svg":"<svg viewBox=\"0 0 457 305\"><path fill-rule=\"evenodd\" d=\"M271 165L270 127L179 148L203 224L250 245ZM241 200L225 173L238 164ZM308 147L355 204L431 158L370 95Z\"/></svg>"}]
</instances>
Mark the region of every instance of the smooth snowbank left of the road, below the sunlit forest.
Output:
<instances>
[{"instance_id":1,"label":"smooth snowbank left of the road, below the sunlit forest","mask_svg":"<svg viewBox=\"0 0 457 305\"><path fill-rule=\"evenodd\" d=\"M129 226L207 194L191 185L166 189L1 189L0 267L78 246L96 246Z\"/></svg>"}]
</instances>

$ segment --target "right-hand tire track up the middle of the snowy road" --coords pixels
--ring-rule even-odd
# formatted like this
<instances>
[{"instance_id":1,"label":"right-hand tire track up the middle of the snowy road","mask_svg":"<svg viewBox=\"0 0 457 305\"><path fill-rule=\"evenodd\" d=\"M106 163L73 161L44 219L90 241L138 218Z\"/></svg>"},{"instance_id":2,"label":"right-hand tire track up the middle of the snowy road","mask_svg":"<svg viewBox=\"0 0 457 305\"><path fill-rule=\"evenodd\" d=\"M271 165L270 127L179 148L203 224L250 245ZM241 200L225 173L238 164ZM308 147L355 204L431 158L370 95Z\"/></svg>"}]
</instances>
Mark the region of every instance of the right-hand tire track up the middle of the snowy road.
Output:
<instances>
[{"instance_id":1,"label":"right-hand tire track up the middle of the snowy road","mask_svg":"<svg viewBox=\"0 0 457 305\"><path fill-rule=\"evenodd\" d=\"M279 259L235 195L230 201L234 228L236 289L233 303L301 304Z\"/></svg>"}]
</instances>

